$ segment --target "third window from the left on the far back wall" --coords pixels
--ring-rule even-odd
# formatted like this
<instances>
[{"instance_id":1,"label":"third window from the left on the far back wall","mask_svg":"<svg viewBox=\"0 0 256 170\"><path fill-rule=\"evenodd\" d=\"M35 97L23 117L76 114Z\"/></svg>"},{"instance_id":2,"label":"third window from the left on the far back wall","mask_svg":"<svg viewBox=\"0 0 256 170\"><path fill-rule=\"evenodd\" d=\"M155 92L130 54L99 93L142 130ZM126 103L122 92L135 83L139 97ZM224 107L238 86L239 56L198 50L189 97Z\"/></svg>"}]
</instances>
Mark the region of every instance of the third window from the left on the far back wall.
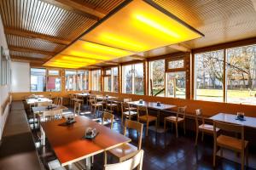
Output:
<instances>
[{"instance_id":1,"label":"third window from the left on the far back wall","mask_svg":"<svg viewBox=\"0 0 256 170\"><path fill-rule=\"evenodd\" d=\"M76 76L77 71L65 71L65 89L67 91L75 91L76 90Z\"/></svg>"}]
</instances>

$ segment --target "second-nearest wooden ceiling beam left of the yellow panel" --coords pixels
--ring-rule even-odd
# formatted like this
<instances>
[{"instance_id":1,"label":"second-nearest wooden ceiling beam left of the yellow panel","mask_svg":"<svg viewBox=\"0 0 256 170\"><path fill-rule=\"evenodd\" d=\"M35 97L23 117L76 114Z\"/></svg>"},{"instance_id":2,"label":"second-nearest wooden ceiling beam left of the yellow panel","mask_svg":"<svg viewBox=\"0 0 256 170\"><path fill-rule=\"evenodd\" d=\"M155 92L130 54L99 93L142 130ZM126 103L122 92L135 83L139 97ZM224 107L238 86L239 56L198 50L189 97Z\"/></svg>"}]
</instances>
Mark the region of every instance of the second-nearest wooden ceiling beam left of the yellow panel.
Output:
<instances>
[{"instance_id":1,"label":"second-nearest wooden ceiling beam left of the yellow panel","mask_svg":"<svg viewBox=\"0 0 256 170\"><path fill-rule=\"evenodd\" d=\"M47 36L47 35L44 35L44 34L39 34L37 32L20 31L20 30L16 30L16 29L10 28L10 27L5 27L4 28L4 33L14 35L14 36L19 36L19 37L42 39L42 40L46 40L48 42L54 42L54 43L59 43L59 44L63 44L63 45L68 45L71 42L71 41L62 40L62 39L59 39L59 38L56 38L56 37L51 37L51 36Z\"/></svg>"}]
</instances>

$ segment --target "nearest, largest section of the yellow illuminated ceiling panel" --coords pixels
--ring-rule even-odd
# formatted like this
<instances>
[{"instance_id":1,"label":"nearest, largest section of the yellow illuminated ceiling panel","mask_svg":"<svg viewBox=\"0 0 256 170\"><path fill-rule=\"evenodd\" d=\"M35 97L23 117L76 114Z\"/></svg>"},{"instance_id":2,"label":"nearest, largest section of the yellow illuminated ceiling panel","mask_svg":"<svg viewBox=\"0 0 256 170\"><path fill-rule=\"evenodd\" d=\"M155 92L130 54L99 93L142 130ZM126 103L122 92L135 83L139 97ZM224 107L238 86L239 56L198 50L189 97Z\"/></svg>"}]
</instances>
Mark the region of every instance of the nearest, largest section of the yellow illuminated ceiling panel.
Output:
<instances>
[{"instance_id":1,"label":"nearest, largest section of the yellow illuminated ceiling panel","mask_svg":"<svg viewBox=\"0 0 256 170\"><path fill-rule=\"evenodd\" d=\"M124 4L101 24L85 32L84 41L143 52L202 37L201 32L151 1Z\"/></svg>"}]
</instances>

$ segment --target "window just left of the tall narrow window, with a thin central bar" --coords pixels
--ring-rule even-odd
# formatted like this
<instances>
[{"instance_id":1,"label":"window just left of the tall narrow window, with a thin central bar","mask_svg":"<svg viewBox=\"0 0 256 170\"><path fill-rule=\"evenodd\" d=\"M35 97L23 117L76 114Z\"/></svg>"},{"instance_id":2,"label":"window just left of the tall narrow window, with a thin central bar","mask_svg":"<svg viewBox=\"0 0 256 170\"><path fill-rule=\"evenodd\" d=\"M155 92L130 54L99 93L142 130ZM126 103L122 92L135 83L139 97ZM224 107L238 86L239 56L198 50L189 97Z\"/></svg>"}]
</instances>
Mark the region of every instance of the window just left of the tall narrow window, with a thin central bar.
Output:
<instances>
[{"instance_id":1,"label":"window just left of the tall narrow window, with a thin central bar","mask_svg":"<svg viewBox=\"0 0 256 170\"><path fill-rule=\"evenodd\" d=\"M143 63L123 66L123 92L125 94L144 94Z\"/></svg>"}]
</instances>

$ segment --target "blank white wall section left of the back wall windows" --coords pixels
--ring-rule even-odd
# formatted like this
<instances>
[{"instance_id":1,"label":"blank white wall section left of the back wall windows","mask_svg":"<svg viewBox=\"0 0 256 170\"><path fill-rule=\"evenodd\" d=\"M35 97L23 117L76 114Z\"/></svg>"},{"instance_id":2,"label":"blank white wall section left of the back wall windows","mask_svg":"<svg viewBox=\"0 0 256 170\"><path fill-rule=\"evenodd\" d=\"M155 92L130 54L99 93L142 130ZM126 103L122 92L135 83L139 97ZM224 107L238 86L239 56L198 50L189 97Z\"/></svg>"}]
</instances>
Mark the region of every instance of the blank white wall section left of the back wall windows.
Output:
<instances>
[{"instance_id":1,"label":"blank white wall section left of the back wall windows","mask_svg":"<svg viewBox=\"0 0 256 170\"><path fill-rule=\"evenodd\" d=\"M30 65L29 63L12 62L11 64L12 92L30 92Z\"/></svg>"}]
</instances>

